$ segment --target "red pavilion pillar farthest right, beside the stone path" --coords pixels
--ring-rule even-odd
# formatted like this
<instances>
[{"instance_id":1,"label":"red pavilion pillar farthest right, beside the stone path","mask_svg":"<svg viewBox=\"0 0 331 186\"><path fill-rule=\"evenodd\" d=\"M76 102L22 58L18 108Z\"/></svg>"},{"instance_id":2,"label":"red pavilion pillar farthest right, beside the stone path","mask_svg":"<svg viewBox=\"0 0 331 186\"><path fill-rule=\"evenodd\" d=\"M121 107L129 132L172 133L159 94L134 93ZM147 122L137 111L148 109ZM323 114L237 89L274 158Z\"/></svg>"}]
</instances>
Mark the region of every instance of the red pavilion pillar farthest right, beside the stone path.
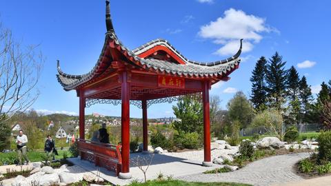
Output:
<instances>
[{"instance_id":1,"label":"red pavilion pillar farthest right, beside the stone path","mask_svg":"<svg viewBox=\"0 0 331 186\"><path fill-rule=\"evenodd\" d=\"M212 166L210 156L210 107L209 107L209 82L203 82L202 99L203 99L203 147L204 159L203 166Z\"/></svg>"}]
</instances>

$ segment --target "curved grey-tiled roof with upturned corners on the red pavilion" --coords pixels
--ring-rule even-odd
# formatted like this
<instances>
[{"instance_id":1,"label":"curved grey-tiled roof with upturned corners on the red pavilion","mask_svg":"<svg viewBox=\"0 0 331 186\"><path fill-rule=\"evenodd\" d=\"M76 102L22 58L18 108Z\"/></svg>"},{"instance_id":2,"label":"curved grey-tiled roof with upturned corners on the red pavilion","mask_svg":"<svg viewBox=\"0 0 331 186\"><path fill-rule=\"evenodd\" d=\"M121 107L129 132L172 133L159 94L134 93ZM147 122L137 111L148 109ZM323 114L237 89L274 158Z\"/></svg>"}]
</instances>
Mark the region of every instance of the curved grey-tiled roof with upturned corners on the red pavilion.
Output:
<instances>
[{"instance_id":1,"label":"curved grey-tiled roof with upturned corners on the red pavilion","mask_svg":"<svg viewBox=\"0 0 331 186\"><path fill-rule=\"evenodd\" d=\"M90 72L82 75L71 75L62 72L58 61L57 70L59 74L57 74L57 79L64 90L75 90L92 79L116 71L116 69L112 67L114 57L109 54L114 50L117 50L121 54L121 59L125 59L121 61L123 63L128 63L134 68L139 68L140 70L157 72L165 75L168 74L171 76L185 76L188 78L193 77L195 79L222 79L227 77L239 66L242 39L237 54L234 54L234 56L231 56L228 59L214 62L191 61L178 52L168 41L163 39L155 39L141 45L139 48L130 50L117 38L110 18L109 1L106 1L106 3L106 25L108 32L106 32L106 39L99 60ZM168 57L170 56L172 60L155 59L152 53L158 52L159 50L165 51L166 55Z\"/></svg>"}]
</instances>

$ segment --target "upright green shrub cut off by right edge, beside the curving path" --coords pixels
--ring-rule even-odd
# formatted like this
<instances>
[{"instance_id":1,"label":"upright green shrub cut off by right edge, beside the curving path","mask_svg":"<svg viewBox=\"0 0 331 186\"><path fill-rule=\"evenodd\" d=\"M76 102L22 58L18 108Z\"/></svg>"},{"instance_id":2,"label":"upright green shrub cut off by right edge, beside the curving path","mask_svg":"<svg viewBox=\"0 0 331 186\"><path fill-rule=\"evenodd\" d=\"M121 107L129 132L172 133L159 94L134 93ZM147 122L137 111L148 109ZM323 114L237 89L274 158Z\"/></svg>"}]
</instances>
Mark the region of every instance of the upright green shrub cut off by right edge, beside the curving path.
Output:
<instances>
[{"instance_id":1,"label":"upright green shrub cut off by right edge, beside the curving path","mask_svg":"<svg viewBox=\"0 0 331 186\"><path fill-rule=\"evenodd\" d=\"M331 131L321 132L317 141L319 142L319 163L323 161L331 161Z\"/></svg>"}]
</instances>

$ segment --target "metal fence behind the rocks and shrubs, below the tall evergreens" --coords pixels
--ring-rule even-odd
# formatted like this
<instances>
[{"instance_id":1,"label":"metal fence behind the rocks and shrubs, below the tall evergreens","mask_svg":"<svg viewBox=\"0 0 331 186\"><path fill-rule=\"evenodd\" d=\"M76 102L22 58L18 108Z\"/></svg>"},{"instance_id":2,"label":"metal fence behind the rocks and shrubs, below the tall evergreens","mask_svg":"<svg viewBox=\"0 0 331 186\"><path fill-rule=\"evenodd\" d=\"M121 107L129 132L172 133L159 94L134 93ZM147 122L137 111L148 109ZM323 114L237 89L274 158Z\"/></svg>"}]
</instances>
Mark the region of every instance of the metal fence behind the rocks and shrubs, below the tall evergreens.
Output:
<instances>
[{"instance_id":1,"label":"metal fence behind the rocks and shrubs, below the tall evergreens","mask_svg":"<svg viewBox=\"0 0 331 186\"><path fill-rule=\"evenodd\" d=\"M309 123L309 124L294 124L294 125L283 125L282 131L285 132L286 127L296 126L299 133L306 132L319 132L323 127L320 123ZM240 136L253 136L254 134L265 134L268 132L264 127L247 127L240 131Z\"/></svg>"}]
</instances>

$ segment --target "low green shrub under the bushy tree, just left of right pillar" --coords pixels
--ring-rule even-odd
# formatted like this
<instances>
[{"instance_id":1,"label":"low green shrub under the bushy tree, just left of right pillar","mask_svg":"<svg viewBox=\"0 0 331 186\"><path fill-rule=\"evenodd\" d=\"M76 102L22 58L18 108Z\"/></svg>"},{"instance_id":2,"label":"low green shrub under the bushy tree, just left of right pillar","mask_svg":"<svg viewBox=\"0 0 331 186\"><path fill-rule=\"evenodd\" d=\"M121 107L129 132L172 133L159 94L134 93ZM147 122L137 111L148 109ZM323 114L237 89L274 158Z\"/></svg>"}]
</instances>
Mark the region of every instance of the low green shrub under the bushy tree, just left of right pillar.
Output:
<instances>
[{"instance_id":1,"label":"low green shrub under the bushy tree, just left of right pillar","mask_svg":"<svg viewBox=\"0 0 331 186\"><path fill-rule=\"evenodd\" d=\"M197 132L179 132L174 135L174 143L180 149L198 149L201 147L201 139Z\"/></svg>"}]
</instances>

